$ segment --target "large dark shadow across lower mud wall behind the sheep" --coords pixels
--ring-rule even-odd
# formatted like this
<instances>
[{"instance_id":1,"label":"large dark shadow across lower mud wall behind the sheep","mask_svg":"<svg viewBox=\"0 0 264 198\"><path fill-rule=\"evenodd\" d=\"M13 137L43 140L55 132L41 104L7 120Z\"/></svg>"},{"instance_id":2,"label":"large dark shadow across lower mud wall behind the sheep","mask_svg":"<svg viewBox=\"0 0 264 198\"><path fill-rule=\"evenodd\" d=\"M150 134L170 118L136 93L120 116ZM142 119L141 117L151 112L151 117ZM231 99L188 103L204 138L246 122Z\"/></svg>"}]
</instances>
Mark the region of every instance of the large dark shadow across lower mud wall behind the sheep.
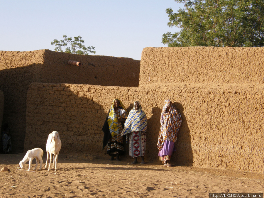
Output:
<instances>
[{"instance_id":1,"label":"large dark shadow across lower mud wall behind the sheep","mask_svg":"<svg viewBox=\"0 0 264 198\"><path fill-rule=\"evenodd\" d=\"M33 86L34 89L41 89L40 84ZM91 92L87 90L79 96L81 93L78 90L63 84L54 84L51 89L47 92L45 87L38 94L31 94L34 90L29 90L25 151L36 147L45 150L48 134L52 131L60 134L60 153L85 154L102 148L102 115L106 116L106 113L101 105L92 100Z\"/></svg>"}]
</instances>

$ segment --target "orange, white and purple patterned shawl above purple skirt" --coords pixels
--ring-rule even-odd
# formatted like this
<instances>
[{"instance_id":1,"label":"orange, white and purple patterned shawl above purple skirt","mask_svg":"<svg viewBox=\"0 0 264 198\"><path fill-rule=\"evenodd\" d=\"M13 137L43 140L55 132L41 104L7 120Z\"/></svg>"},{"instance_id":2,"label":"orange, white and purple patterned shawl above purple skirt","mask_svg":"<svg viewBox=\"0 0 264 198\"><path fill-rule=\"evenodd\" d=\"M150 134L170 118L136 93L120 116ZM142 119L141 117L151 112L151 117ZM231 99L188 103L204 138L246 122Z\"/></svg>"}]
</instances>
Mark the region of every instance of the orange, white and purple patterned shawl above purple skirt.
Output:
<instances>
[{"instance_id":1,"label":"orange, white and purple patterned shawl above purple skirt","mask_svg":"<svg viewBox=\"0 0 264 198\"><path fill-rule=\"evenodd\" d=\"M176 142L177 133L180 129L182 123L181 114L172 105L166 114L166 109L169 104L172 104L170 99L165 100L164 106L161 111L160 116L160 132L157 147L159 150L162 149L164 141Z\"/></svg>"}]
</instances>

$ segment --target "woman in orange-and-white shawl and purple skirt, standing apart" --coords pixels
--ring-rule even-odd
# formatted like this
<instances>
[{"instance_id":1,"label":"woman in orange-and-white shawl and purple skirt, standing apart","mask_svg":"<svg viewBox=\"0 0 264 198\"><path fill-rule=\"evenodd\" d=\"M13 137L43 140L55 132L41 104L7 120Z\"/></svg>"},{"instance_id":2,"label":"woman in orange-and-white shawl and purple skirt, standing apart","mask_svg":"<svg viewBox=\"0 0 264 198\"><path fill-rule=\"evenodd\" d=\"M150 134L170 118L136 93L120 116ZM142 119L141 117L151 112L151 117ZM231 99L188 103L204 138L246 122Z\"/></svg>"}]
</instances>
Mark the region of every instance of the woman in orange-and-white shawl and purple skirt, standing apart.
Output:
<instances>
[{"instance_id":1,"label":"woman in orange-and-white shawl and purple skirt, standing apart","mask_svg":"<svg viewBox=\"0 0 264 198\"><path fill-rule=\"evenodd\" d=\"M171 166L170 156L176 150L175 142L182 123L181 115L171 104L170 99L165 100L160 116L161 126L157 147L159 149L158 156L160 156L164 166Z\"/></svg>"}]
</instances>

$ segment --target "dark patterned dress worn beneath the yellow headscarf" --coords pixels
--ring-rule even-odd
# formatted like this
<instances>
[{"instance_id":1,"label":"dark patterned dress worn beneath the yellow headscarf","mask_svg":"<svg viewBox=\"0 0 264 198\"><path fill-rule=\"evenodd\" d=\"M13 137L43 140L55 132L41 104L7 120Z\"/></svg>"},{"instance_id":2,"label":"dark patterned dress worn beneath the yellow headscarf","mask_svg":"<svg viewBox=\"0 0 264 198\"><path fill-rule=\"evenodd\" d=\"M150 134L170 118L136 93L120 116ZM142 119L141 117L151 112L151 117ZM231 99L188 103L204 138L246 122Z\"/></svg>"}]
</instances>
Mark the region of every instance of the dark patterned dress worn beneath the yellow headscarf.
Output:
<instances>
[{"instance_id":1,"label":"dark patterned dress worn beneath the yellow headscarf","mask_svg":"<svg viewBox=\"0 0 264 198\"><path fill-rule=\"evenodd\" d=\"M121 114L121 109L117 109L117 111L114 111L114 114L116 115L117 119L127 118L126 111ZM117 123L118 130L122 131L123 127L121 122ZM121 137L120 133L117 133L115 136L111 137L107 143L107 154L116 154L119 153L120 155L124 154L125 148L124 148L124 139Z\"/></svg>"}]
</instances>

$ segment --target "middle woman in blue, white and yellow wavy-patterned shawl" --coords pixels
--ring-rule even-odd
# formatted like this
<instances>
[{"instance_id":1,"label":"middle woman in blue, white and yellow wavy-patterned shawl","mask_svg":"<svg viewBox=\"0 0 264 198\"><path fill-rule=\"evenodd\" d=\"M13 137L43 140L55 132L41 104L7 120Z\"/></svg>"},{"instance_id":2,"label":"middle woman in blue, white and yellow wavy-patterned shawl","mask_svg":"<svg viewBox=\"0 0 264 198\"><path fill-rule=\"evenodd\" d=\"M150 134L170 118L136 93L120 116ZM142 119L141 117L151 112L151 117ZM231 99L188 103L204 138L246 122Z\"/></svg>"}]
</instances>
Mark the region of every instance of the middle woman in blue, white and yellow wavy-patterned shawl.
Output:
<instances>
[{"instance_id":1,"label":"middle woman in blue, white and yellow wavy-patterned shawl","mask_svg":"<svg viewBox=\"0 0 264 198\"><path fill-rule=\"evenodd\" d=\"M121 136L129 137L129 156L135 158L131 164L138 163L137 157L141 156L141 164L145 164L147 116L141 108L139 101L134 102L134 108L128 114L125 127Z\"/></svg>"}]
</instances>

